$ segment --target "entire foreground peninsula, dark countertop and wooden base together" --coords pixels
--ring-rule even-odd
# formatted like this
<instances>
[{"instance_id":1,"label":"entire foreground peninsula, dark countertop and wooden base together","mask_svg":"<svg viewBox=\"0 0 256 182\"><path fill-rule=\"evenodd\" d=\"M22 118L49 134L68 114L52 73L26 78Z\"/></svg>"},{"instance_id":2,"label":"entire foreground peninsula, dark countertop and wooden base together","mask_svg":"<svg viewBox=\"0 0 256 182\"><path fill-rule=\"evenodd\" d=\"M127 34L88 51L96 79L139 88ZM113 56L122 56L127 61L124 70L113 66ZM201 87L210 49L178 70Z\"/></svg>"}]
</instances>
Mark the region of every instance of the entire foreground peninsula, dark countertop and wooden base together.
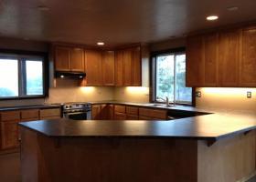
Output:
<instances>
[{"instance_id":1,"label":"entire foreground peninsula, dark countertop and wooden base together","mask_svg":"<svg viewBox=\"0 0 256 182\"><path fill-rule=\"evenodd\" d=\"M228 182L255 174L256 116L19 126L23 181Z\"/></svg>"}]
</instances>

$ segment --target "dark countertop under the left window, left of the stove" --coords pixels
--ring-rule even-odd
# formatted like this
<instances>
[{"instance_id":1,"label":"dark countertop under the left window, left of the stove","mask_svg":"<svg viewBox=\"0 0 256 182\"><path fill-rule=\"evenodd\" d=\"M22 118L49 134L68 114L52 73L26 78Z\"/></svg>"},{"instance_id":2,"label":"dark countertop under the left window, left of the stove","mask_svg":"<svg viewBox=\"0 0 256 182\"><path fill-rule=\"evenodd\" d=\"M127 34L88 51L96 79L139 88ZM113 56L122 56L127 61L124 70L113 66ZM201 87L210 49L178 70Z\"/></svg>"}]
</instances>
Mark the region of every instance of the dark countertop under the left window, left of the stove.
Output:
<instances>
[{"instance_id":1,"label":"dark countertop under the left window, left of the stove","mask_svg":"<svg viewBox=\"0 0 256 182\"><path fill-rule=\"evenodd\" d=\"M12 111L22 109L33 109L33 108L58 108L60 105L27 105L27 106L3 106L0 107L0 111Z\"/></svg>"}]
</instances>

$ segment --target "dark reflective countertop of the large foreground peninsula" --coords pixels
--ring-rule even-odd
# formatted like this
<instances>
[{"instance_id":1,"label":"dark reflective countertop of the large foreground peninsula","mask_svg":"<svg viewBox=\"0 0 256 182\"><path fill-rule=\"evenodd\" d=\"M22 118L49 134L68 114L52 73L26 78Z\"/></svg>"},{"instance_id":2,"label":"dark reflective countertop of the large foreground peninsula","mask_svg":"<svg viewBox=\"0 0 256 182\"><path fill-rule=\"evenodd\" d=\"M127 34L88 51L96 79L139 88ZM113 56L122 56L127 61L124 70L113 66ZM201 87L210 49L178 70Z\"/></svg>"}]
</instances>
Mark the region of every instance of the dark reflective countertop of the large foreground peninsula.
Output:
<instances>
[{"instance_id":1,"label":"dark reflective countertop of the large foreground peninsula","mask_svg":"<svg viewBox=\"0 0 256 182\"><path fill-rule=\"evenodd\" d=\"M57 119L19 125L49 137L159 137L215 141L256 129L256 115L211 114L171 121Z\"/></svg>"}]
</instances>

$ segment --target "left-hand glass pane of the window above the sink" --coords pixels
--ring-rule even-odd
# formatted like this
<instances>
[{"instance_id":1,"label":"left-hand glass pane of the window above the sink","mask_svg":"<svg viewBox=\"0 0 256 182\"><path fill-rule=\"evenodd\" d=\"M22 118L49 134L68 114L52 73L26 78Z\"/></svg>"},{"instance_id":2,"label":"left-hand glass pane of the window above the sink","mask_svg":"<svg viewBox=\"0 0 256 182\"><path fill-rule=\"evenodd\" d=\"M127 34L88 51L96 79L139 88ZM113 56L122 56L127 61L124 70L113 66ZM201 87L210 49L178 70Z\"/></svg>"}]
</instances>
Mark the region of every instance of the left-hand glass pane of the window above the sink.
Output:
<instances>
[{"instance_id":1,"label":"left-hand glass pane of the window above the sink","mask_svg":"<svg viewBox=\"0 0 256 182\"><path fill-rule=\"evenodd\" d=\"M156 57L156 97L169 97L174 100L174 56ZM157 101L163 101L157 99Z\"/></svg>"}]
</instances>

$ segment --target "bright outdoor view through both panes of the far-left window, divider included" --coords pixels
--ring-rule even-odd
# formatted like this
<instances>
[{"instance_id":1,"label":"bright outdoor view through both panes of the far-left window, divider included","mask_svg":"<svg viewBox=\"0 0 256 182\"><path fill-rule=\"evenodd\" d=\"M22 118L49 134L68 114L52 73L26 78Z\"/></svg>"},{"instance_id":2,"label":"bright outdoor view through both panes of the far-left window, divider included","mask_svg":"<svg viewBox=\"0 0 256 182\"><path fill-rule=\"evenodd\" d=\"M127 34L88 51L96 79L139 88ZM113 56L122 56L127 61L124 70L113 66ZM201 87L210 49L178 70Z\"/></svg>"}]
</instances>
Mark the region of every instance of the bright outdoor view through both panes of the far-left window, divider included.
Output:
<instances>
[{"instance_id":1,"label":"bright outdoor view through both panes of the far-left window, divider included","mask_svg":"<svg viewBox=\"0 0 256 182\"><path fill-rule=\"evenodd\" d=\"M44 95L41 57L0 55L0 77L0 98Z\"/></svg>"}]
</instances>

